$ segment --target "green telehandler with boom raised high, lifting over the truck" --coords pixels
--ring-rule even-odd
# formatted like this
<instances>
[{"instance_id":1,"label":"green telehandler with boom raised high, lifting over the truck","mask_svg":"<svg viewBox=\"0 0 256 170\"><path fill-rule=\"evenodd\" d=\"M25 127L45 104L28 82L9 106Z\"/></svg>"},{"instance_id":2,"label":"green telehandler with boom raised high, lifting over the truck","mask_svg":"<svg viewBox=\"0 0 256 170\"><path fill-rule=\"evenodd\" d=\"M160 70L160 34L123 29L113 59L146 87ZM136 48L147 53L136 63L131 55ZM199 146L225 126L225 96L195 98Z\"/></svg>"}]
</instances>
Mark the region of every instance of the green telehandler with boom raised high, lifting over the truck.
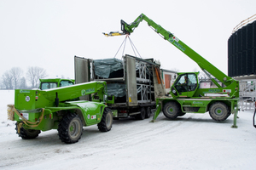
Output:
<instances>
[{"instance_id":1,"label":"green telehandler with boom raised high, lifting over the truck","mask_svg":"<svg viewBox=\"0 0 256 170\"><path fill-rule=\"evenodd\" d=\"M234 125L236 126L236 116L239 100L239 82L228 77L222 71L219 71L214 65L189 48L184 42L174 36L170 31L166 31L153 20L150 20L145 14L140 14L130 25L121 20L121 32L103 33L107 37L130 35L140 22L145 20L148 26L151 26L156 33L168 42L171 42L176 48L193 59L201 70L212 80L217 88L200 88L198 80L199 72L180 72L177 79L171 87L170 97L160 97L156 99L157 110L154 114L153 122L163 111L169 119L176 119L177 116L183 116L186 113L205 113L209 111L210 116L217 122L226 120L231 113L234 113ZM219 83L221 82L223 86Z\"/></svg>"}]
</instances>

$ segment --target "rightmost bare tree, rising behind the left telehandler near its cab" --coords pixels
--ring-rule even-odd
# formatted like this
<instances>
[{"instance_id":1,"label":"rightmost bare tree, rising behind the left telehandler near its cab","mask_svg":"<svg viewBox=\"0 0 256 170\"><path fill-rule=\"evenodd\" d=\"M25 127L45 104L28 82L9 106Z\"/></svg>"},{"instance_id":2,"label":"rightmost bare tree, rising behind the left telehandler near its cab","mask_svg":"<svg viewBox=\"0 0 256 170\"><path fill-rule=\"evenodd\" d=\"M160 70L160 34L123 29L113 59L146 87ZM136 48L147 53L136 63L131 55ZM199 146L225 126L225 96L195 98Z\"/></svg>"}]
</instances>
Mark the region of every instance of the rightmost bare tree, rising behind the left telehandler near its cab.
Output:
<instances>
[{"instance_id":1,"label":"rightmost bare tree, rising behind the left telehandler near its cab","mask_svg":"<svg viewBox=\"0 0 256 170\"><path fill-rule=\"evenodd\" d=\"M46 71L38 66L29 67L26 73L29 82L32 84L32 88L38 88L39 79L47 77Z\"/></svg>"}]
</instances>

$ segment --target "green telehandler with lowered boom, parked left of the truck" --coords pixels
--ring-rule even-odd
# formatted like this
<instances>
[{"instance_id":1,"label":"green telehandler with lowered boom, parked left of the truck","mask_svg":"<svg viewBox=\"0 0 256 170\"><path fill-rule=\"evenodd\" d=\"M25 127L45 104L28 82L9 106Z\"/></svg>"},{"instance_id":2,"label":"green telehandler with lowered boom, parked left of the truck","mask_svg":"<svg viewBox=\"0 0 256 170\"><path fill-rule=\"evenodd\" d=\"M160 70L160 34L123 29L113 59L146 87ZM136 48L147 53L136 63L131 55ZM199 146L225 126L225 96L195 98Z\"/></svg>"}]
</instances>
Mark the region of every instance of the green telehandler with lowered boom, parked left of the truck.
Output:
<instances>
[{"instance_id":1,"label":"green telehandler with lowered boom, parked left of the truck","mask_svg":"<svg viewBox=\"0 0 256 170\"><path fill-rule=\"evenodd\" d=\"M73 144L81 138L83 127L97 124L102 132L111 130L113 114L106 105L106 82L57 86L15 90L15 105L8 105L8 116L9 120L16 121L16 133L22 139L34 139L41 131L57 129L62 142ZM79 99L89 94L97 94L98 102Z\"/></svg>"}]
</instances>

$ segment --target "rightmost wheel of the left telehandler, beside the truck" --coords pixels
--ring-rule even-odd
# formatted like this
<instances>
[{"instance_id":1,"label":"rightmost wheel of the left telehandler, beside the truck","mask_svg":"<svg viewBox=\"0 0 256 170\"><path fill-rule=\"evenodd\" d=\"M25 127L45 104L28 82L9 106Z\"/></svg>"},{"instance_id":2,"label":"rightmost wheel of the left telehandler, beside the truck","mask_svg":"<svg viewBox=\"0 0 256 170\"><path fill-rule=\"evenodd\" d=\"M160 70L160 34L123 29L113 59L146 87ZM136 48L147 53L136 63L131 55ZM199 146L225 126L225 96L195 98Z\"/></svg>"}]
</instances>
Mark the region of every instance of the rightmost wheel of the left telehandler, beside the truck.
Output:
<instances>
[{"instance_id":1,"label":"rightmost wheel of the left telehandler, beside the truck","mask_svg":"<svg viewBox=\"0 0 256 170\"><path fill-rule=\"evenodd\" d=\"M112 124L113 124L112 111L108 108L105 108L105 110L103 111L102 120L97 124L98 129L101 132L108 132L111 130Z\"/></svg>"}]
</instances>

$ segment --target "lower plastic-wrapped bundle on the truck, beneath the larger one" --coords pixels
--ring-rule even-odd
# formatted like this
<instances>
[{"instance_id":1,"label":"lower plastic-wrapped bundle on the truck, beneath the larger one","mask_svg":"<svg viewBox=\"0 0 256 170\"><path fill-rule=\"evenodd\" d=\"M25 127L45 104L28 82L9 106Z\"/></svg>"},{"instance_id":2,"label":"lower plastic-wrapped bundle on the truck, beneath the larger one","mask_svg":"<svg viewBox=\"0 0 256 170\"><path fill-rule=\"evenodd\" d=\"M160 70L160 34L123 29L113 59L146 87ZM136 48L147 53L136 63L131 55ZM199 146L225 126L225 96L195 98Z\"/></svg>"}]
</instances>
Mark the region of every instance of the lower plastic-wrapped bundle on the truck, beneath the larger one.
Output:
<instances>
[{"instance_id":1,"label":"lower plastic-wrapped bundle on the truck, beneath the larger one","mask_svg":"<svg viewBox=\"0 0 256 170\"><path fill-rule=\"evenodd\" d=\"M114 97L124 97L125 96L125 84L112 83L107 84L108 96L113 95Z\"/></svg>"}]
</instances>

